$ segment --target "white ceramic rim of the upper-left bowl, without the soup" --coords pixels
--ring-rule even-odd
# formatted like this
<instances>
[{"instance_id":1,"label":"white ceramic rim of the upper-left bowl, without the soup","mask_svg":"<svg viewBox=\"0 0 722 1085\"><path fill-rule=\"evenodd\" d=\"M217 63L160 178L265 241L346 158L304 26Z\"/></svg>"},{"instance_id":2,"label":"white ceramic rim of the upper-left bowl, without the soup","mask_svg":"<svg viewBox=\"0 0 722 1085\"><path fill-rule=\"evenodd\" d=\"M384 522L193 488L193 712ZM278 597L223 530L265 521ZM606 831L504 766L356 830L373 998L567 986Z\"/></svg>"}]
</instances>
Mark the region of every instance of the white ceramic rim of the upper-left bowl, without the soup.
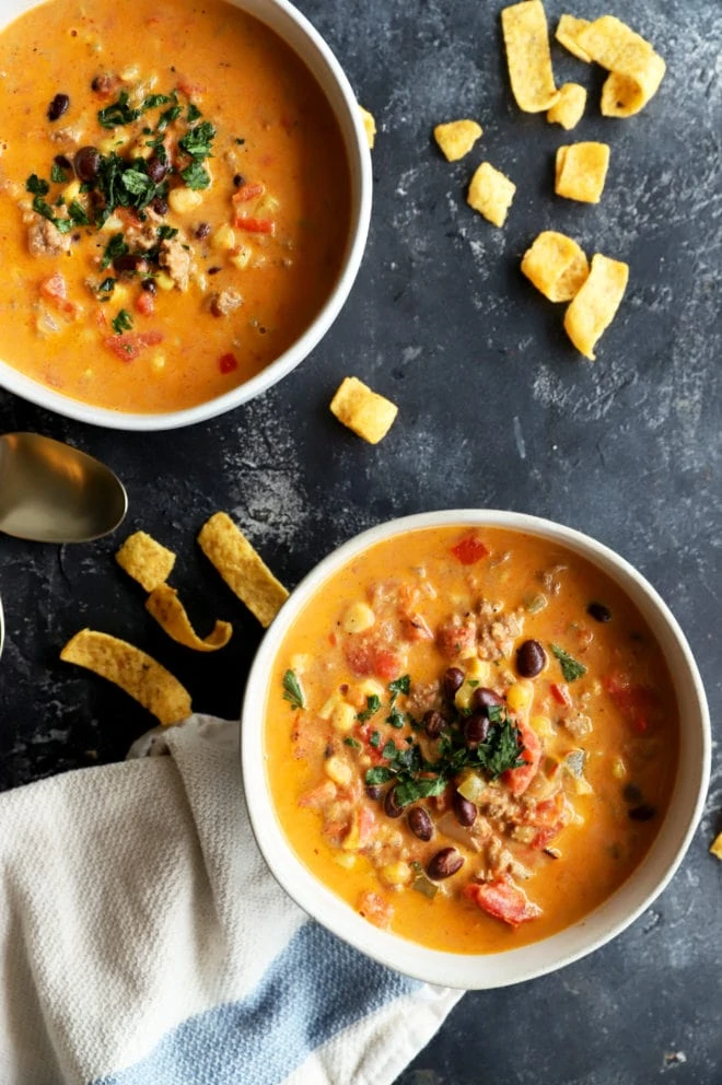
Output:
<instances>
[{"instance_id":1,"label":"white ceramic rim of the upper-left bowl, without the soup","mask_svg":"<svg viewBox=\"0 0 722 1085\"><path fill-rule=\"evenodd\" d=\"M328 45L308 20L288 0L229 0L229 2L265 23L291 46L315 75L338 120L351 175L351 221L341 269L333 293L303 335L265 370L232 392L186 410L136 415L94 407L48 388L2 360L0 360L0 387L37 404L38 407L94 425L105 425L115 430L177 429L180 425L191 425L194 422L214 418L266 392L311 353L338 316L361 265L371 218L371 155L356 96ZM4 0L0 8L0 30L34 7L36 4L33 0Z\"/></svg>"}]
</instances>

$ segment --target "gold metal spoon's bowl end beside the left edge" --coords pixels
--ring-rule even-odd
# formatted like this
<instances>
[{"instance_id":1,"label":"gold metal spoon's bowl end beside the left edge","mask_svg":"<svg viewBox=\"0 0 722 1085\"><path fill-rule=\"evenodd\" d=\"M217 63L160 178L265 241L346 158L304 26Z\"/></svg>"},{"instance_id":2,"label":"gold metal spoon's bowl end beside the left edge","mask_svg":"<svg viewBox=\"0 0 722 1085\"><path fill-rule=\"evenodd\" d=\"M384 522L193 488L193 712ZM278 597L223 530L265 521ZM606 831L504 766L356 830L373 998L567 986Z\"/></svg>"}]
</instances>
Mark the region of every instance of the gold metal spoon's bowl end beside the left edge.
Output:
<instances>
[{"instance_id":1,"label":"gold metal spoon's bowl end beside the left edge","mask_svg":"<svg viewBox=\"0 0 722 1085\"><path fill-rule=\"evenodd\" d=\"M0 435L0 532L35 542L90 542L124 520L128 497L97 459L39 433Z\"/></svg>"}]
</instances>

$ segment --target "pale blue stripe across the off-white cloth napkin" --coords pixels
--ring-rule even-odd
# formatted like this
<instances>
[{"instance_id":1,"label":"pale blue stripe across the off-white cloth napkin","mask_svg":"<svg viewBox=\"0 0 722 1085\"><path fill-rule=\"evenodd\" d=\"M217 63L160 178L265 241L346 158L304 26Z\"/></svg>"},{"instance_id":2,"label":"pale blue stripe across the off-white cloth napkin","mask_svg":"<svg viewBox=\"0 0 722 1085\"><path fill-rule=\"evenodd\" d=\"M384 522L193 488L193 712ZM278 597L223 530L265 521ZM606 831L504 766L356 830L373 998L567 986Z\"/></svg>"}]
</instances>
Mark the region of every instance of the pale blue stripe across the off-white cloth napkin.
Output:
<instances>
[{"instance_id":1,"label":"pale blue stripe across the off-white cloth napkin","mask_svg":"<svg viewBox=\"0 0 722 1085\"><path fill-rule=\"evenodd\" d=\"M247 999L189 1017L95 1085L278 1085L338 1031L419 987L304 923Z\"/></svg>"}]
</instances>

